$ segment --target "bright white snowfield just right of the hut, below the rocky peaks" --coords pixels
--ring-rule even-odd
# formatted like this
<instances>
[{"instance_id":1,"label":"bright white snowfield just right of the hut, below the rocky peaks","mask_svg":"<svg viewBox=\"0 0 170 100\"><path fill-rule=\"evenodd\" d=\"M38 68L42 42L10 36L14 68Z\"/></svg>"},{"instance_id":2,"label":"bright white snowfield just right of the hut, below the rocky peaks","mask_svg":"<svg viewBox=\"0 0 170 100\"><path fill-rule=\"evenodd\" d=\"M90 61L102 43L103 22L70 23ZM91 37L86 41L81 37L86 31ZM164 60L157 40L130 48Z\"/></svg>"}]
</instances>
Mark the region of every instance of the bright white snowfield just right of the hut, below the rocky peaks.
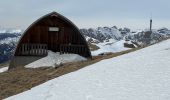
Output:
<instances>
[{"instance_id":1,"label":"bright white snowfield just right of the hut, below the rocky peaks","mask_svg":"<svg viewBox=\"0 0 170 100\"><path fill-rule=\"evenodd\" d=\"M96 56L102 53L108 53L108 52L115 53L115 52L121 52L130 49L124 47L124 43L125 40L115 41L113 39L110 39L108 42L96 44L100 49L92 51L91 53L93 56Z\"/></svg>"}]
</instances>

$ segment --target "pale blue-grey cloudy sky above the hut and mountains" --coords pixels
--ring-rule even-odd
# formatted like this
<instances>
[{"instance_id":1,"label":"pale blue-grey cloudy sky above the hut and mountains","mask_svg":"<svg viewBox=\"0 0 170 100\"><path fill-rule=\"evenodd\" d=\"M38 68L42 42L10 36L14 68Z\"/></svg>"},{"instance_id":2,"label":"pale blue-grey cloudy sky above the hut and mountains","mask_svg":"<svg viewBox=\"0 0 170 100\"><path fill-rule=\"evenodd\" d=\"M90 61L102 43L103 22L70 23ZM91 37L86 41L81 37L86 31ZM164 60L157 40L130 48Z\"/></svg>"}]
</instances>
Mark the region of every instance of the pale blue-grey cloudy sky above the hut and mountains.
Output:
<instances>
[{"instance_id":1,"label":"pale blue-grey cloudy sky above the hut and mountains","mask_svg":"<svg viewBox=\"0 0 170 100\"><path fill-rule=\"evenodd\" d=\"M170 0L0 0L0 27L26 29L52 11L79 28L170 29Z\"/></svg>"}]
</instances>

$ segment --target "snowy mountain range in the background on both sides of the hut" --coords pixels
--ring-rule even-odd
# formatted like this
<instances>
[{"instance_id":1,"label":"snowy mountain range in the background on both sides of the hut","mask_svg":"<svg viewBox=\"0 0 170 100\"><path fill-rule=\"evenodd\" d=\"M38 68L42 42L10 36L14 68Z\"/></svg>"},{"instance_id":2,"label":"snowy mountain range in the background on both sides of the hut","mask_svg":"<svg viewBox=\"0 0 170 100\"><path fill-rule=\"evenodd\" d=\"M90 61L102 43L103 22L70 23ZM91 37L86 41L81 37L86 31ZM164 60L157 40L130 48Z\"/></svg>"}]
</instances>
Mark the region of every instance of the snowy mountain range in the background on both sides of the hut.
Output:
<instances>
[{"instance_id":1,"label":"snowy mountain range in the background on both sides of the hut","mask_svg":"<svg viewBox=\"0 0 170 100\"><path fill-rule=\"evenodd\" d=\"M105 48L105 45L107 45L107 48L108 46L110 48L115 46L113 44L118 44L119 41L121 41L121 44L132 43L135 47L141 47L157 43L170 37L170 30L167 28L160 28L150 32L149 30L131 31L129 28L117 28L113 26L84 28L80 29L80 31L88 41L91 50L94 46L97 49L100 49L102 46ZM22 30L15 29L0 29L0 63L11 59L22 32ZM115 48L118 47L115 46Z\"/></svg>"}]
</instances>

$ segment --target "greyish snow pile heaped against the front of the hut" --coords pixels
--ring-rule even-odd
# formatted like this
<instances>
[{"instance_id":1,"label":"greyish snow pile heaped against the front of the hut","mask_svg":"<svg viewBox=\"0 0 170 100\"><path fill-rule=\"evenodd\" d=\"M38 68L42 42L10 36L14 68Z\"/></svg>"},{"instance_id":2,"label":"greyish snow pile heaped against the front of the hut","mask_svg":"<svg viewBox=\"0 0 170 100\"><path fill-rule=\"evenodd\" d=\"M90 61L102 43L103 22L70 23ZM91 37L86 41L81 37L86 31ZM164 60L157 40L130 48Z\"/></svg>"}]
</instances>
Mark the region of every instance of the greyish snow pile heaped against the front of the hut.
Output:
<instances>
[{"instance_id":1,"label":"greyish snow pile heaped against the front of the hut","mask_svg":"<svg viewBox=\"0 0 170 100\"><path fill-rule=\"evenodd\" d=\"M59 54L48 51L48 56L26 65L26 68L55 67L61 63L84 61L86 58L77 54Z\"/></svg>"}]
</instances>

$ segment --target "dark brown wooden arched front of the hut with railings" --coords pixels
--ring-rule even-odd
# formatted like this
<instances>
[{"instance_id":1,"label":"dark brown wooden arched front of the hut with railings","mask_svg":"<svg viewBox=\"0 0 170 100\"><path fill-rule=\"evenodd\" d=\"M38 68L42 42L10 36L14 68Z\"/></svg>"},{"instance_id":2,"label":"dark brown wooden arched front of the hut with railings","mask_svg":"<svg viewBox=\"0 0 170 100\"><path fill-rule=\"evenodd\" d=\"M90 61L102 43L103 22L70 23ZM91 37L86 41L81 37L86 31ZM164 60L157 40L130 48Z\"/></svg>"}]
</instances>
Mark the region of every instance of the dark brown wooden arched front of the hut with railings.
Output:
<instances>
[{"instance_id":1,"label":"dark brown wooden arched front of the hut with railings","mask_svg":"<svg viewBox=\"0 0 170 100\"><path fill-rule=\"evenodd\" d=\"M56 12L38 19L23 33L14 56L46 56L47 50L91 58L89 47L79 29Z\"/></svg>"}]
</instances>

